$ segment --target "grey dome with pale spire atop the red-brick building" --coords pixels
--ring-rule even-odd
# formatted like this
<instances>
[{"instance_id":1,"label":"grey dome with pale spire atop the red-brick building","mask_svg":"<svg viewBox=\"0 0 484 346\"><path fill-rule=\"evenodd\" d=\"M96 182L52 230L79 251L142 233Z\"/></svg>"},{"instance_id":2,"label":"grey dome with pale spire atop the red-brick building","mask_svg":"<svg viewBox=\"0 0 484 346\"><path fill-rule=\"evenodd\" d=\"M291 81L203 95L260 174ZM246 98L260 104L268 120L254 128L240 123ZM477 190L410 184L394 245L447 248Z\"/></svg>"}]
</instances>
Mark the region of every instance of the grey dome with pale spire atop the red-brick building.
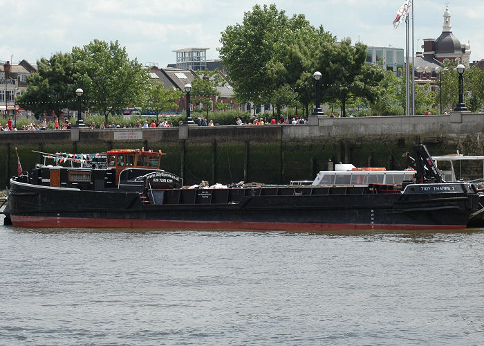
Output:
<instances>
[{"instance_id":1,"label":"grey dome with pale spire atop the red-brick building","mask_svg":"<svg viewBox=\"0 0 484 346\"><path fill-rule=\"evenodd\" d=\"M442 33L437 39L424 39L422 45L423 56L433 58L439 62L448 63L454 61L454 64L464 64L469 67L471 55L470 44L461 44L457 37L452 33L450 24L450 12L447 4L444 12L444 26Z\"/></svg>"}]
</instances>

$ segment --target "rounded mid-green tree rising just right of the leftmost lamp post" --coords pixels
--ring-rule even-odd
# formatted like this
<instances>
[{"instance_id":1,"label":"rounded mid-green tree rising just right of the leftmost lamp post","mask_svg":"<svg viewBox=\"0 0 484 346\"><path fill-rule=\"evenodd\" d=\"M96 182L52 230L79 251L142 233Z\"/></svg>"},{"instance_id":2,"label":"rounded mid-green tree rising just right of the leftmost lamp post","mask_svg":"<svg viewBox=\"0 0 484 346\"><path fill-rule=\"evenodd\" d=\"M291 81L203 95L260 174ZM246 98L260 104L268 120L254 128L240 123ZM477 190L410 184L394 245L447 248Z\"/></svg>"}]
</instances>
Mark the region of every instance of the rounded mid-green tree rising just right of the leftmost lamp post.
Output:
<instances>
[{"instance_id":1,"label":"rounded mid-green tree rising just right of the leftmost lamp post","mask_svg":"<svg viewBox=\"0 0 484 346\"><path fill-rule=\"evenodd\" d=\"M95 39L86 46L73 48L75 77L84 89L83 102L104 114L142 104L149 87L149 75L136 59L129 60L126 48L118 41Z\"/></svg>"}]
</instances>

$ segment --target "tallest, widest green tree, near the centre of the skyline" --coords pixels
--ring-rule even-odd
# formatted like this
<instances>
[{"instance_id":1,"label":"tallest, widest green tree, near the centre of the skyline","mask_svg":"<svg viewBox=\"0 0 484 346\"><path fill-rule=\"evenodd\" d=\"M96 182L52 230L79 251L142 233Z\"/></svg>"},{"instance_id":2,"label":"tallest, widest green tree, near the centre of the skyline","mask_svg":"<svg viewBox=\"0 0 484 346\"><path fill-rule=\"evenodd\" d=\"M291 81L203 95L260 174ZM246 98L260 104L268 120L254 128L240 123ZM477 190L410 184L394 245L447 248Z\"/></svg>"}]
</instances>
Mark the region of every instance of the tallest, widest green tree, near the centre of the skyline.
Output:
<instances>
[{"instance_id":1,"label":"tallest, widest green tree, near the centre of the skyline","mask_svg":"<svg viewBox=\"0 0 484 346\"><path fill-rule=\"evenodd\" d=\"M242 24L227 26L218 51L241 102L290 104L294 94L301 92L304 96L299 102L307 109L308 94L314 95L314 87L306 85L303 73L311 67L308 58L315 45L328 40L334 42L335 37L322 27L310 26L304 15L289 18L274 4L256 5L245 12ZM313 72L310 69L311 75ZM284 95L288 96L285 100ZM277 118L280 112L277 107Z\"/></svg>"}]
</instances>

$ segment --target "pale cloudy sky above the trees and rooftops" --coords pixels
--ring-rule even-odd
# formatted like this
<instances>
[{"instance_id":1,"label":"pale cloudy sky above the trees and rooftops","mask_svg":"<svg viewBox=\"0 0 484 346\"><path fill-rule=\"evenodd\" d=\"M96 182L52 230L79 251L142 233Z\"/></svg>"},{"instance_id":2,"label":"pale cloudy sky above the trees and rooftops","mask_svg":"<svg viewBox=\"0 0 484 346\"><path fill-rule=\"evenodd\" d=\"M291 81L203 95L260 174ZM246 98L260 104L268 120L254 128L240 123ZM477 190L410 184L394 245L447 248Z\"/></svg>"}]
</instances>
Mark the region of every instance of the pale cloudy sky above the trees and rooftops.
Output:
<instances>
[{"instance_id":1,"label":"pale cloudy sky above the trees and rooftops","mask_svg":"<svg viewBox=\"0 0 484 346\"><path fill-rule=\"evenodd\" d=\"M445 0L414 3L415 50L423 39L436 39L443 28ZM244 12L256 4L275 3L286 15L302 14L315 27L324 26L337 39L350 37L368 46L405 47L405 26L393 28L404 0L0 0L3 25L0 62L35 64L41 57L68 53L94 39L118 40L131 59L166 67L176 61L176 49L210 48L217 59L221 32L241 24ZM449 2L454 35L470 41L471 61L484 58L484 1Z\"/></svg>"}]
</instances>

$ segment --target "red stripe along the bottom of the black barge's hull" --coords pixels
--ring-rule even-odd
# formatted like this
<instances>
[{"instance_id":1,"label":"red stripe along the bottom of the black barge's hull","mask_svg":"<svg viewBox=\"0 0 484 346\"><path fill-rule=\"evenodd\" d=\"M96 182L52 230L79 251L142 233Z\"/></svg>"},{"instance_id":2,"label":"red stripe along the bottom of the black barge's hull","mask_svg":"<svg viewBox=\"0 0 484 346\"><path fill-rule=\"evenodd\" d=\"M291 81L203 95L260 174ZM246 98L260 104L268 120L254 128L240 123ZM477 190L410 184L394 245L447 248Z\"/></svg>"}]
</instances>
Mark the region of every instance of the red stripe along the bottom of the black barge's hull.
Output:
<instances>
[{"instance_id":1,"label":"red stripe along the bottom of the black barge's hull","mask_svg":"<svg viewBox=\"0 0 484 346\"><path fill-rule=\"evenodd\" d=\"M183 221L145 219L84 219L11 215L13 226L30 228L152 228L162 230L458 230L460 225L315 224L288 222Z\"/></svg>"}]
</instances>

